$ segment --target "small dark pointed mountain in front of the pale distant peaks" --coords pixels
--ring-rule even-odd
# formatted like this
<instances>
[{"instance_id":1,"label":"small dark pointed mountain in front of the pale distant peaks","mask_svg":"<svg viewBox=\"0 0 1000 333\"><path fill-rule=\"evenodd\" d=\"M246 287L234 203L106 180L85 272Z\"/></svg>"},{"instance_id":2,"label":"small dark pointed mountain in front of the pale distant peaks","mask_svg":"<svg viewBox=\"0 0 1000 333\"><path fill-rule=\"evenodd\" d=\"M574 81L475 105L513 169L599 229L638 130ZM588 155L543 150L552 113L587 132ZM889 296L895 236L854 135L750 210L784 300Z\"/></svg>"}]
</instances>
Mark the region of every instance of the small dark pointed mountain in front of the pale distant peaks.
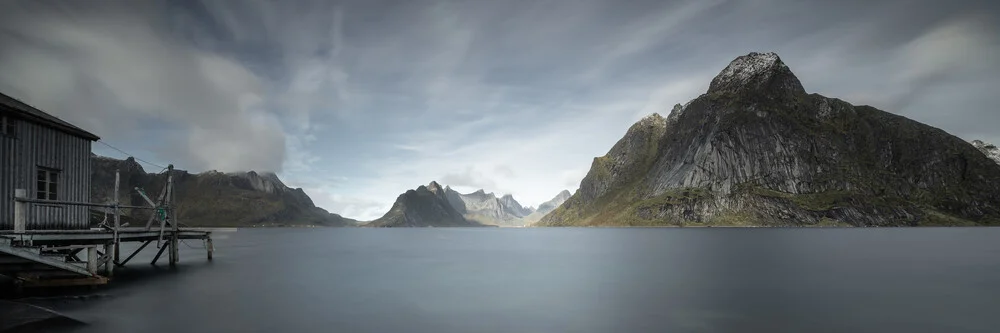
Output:
<instances>
[{"instance_id":1,"label":"small dark pointed mountain in front of the pale distant peaks","mask_svg":"<svg viewBox=\"0 0 1000 333\"><path fill-rule=\"evenodd\" d=\"M480 223L470 221L449 202L437 182L408 190L396 198L389 212L381 218L364 224L367 227L475 227Z\"/></svg>"}]
</instances>

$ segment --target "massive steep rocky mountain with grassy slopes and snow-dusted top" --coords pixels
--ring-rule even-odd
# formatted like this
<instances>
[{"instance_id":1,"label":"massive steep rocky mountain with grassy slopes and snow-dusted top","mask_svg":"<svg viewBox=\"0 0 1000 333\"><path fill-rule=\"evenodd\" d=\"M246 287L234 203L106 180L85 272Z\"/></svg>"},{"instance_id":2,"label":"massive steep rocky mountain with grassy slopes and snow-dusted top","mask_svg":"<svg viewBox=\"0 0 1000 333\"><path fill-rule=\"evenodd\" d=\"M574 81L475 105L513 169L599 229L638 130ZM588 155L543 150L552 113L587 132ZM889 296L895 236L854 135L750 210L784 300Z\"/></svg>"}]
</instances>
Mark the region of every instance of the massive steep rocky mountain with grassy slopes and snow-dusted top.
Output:
<instances>
[{"instance_id":1,"label":"massive steep rocky mountain with grassy slopes and snow-dusted top","mask_svg":"<svg viewBox=\"0 0 1000 333\"><path fill-rule=\"evenodd\" d=\"M629 128L538 225L1000 225L998 179L962 139L808 94L750 53Z\"/></svg>"}]
</instances>

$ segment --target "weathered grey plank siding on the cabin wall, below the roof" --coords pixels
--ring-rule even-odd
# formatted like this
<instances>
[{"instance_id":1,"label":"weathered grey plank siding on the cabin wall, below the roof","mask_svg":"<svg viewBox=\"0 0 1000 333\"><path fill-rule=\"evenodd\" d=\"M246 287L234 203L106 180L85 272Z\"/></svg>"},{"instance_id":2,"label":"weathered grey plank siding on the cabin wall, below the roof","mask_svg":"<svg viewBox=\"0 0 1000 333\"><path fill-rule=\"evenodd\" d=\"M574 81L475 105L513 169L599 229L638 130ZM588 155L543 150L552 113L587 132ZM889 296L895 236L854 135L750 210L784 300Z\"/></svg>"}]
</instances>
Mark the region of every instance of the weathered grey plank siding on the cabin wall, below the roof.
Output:
<instances>
[{"instance_id":1,"label":"weathered grey plank siding on the cabin wall, below the roof","mask_svg":"<svg viewBox=\"0 0 1000 333\"><path fill-rule=\"evenodd\" d=\"M10 162L3 163L0 174L11 179L0 182L3 191L0 229L14 228L14 189L27 189L28 196L35 197L39 167L59 171L58 200L90 202L90 140L27 121L17 122L15 138L3 140L5 151L0 153L11 158L4 159ZM38 204L30 207L29 230L86 229L90 224L86 207Z\"/></svg>"}]
</instances>

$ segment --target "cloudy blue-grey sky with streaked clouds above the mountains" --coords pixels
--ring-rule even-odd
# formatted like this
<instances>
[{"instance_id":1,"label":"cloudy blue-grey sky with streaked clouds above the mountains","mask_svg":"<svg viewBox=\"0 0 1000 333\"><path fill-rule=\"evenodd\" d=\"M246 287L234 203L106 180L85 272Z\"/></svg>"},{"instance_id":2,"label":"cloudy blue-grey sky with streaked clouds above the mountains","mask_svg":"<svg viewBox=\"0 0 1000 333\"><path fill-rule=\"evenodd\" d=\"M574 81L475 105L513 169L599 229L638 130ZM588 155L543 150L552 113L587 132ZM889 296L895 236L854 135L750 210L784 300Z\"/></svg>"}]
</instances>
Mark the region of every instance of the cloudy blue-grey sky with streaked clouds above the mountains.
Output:
<instances>
[{"instance_id":1,"label":"cloudy blue-grey sky with streaked clouds above the mountains","mask_svg":"<svg viewBox=\"0 0 1000 333\"><path fill-rule=\"evenodd\" d=\"M7 0L0 91L154 164L276 172L350 218L432 180L537 206L753 51L808 92L1000 142L998 7Z\"/></svg>"}]
</instances>

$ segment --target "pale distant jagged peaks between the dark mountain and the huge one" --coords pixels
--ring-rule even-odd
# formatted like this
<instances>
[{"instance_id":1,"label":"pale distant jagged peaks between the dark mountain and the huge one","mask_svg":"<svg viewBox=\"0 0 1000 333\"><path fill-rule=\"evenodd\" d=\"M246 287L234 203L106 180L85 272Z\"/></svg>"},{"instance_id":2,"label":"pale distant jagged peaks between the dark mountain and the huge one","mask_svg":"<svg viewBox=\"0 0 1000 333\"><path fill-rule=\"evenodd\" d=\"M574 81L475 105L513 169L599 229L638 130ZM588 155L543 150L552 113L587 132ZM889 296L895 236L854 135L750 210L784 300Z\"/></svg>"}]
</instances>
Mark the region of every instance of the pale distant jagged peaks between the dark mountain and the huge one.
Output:
<instances>
[{"instance_id":1,"label":"pale distant jagged peaks between the dark mountain and the huge one","mask_svg":"<svg viewBox=\"0 0 1000 333\"><path fill-rule=\"evenodd\" d=\"M481 224L521 226L524 225L522 218L532 213L531 209L521 206L510 194L497 198L495 194L486 193L482 189L461 194L450 186L445 187L444 191L448 202L462 216Z\"/></svg>"}]
</instances>

